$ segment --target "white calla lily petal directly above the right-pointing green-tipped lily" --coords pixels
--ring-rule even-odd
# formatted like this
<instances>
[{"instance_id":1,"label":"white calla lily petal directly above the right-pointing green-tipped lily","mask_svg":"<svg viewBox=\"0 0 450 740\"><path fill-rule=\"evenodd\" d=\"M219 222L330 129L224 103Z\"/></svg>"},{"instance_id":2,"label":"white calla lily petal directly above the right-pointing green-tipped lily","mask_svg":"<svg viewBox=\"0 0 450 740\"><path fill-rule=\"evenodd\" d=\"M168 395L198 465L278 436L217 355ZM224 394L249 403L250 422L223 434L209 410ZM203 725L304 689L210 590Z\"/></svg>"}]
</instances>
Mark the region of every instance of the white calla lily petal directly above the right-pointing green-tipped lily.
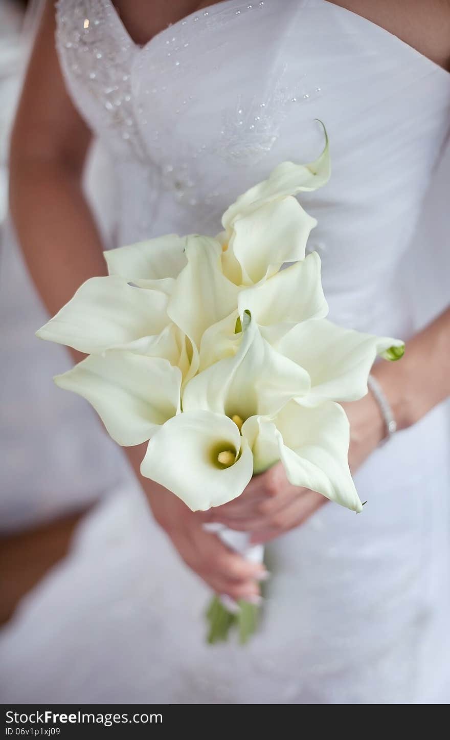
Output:
<instances>
[{"instance_id":1,"label":"white calla lily petal directly above the right-pointing green-tipped lily","mask_svg":"<svg viewBox=\"0 0 450 740\"><path fill-rule=\"evenodd\" d=\"M312 252L303 262L287 267L265 283L242 290L239 313L248 309L270 343L299 322L325 317L328 306L320 269L321 260L317 252Z\"/></svg>"}]
</instances>

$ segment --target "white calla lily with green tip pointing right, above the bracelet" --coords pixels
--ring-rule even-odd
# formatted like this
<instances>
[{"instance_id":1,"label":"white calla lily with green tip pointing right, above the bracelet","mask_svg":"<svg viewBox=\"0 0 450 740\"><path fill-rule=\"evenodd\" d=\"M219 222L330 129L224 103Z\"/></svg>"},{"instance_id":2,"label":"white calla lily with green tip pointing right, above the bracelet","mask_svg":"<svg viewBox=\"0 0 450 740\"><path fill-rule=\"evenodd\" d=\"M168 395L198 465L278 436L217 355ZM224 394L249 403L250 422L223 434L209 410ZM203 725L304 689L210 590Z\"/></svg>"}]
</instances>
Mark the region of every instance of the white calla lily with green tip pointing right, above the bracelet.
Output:
<instances>
[{"instance_id":1,"label":"white calla lily with green tip pointing right, above the bracelet","mask_svg":"<svg viewBox=\"0 0 450 740\"><path fill-rule=\"evenodd\" d=\"M299 399L307 406L365 396L375 357L391 347L400 351L403 342L343 329L327 319L299 323L276 344L279 352L310 374L310 392Z\"/></svg>"}]
</instances>

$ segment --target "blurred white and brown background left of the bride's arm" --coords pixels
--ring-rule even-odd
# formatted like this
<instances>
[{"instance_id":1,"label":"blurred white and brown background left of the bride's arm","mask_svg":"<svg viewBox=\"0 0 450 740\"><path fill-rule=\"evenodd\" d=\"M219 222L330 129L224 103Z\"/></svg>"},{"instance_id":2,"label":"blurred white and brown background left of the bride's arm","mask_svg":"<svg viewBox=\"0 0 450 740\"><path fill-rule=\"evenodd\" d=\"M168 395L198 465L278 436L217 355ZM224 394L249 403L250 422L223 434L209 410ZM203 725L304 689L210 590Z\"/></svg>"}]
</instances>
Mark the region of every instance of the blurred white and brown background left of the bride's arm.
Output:
<instances>
[{"instance_id":1,"label":"blurred white and brown background left of the bride's arm","mask_svg":"<svg viewBox=\"0 0 450 740\"><path fill-rule=\"evenodd\" d=\"M112 453L90 408L58 390L66 350L40 342L47 314L7 215L7 152L40 0L0 0L0 623L69 548L83 514L115 491L126 464ZM86 190L103 232L114 197L106 155L94 147ZM95 186L101 184L101 186ZM95 195L94 195L95 192ZM52 266L49 265L49 269ZM83 434L80 434L83 428Z\"/></svg>"}]
</instances>

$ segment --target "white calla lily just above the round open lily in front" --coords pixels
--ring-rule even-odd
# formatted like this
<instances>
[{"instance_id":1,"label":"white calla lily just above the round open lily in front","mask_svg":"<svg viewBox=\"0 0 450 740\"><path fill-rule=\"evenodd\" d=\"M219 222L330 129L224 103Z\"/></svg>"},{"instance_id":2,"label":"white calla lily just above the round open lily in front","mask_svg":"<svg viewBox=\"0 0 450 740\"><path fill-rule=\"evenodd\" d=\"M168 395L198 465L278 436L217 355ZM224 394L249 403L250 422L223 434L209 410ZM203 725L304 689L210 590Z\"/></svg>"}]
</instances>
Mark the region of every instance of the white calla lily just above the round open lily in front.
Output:
<instances>
[{"instance_id":1,"label":"white calla lily just above the round open lily in front","mask_svg":"<svg viewBox=\"0 0 450 740\"><path fill-rule=\"evenodd\" d=\"M272 414L287 400L307 394L310 377L303 368L274 350L248 314L234 357L219 360L187 383L183 411L203 408L237 416Z\"/></svg>"}]
</instances>

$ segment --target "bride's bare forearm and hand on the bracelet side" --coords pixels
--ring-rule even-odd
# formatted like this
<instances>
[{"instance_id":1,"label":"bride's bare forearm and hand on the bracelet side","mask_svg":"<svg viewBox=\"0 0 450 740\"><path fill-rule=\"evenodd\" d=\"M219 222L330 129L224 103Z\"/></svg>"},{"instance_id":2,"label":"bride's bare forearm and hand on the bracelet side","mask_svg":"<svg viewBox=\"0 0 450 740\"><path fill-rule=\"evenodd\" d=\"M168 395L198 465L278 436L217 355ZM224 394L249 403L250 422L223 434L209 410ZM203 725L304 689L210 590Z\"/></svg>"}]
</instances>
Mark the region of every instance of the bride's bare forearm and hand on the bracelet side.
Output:
<instances>
[{"instance_id":1,"label":"bride's bare forearm and hand on the bracelet side","mask_svg":"<svg viewBox=\"0 0 450 740\"><path fill-rule=\"evenodd\" d=\"M450 395L450 308L406 343L398 363L381 360L372 374L383 388L398 429L417 423ZM386 434L372 393L343 404L350 420L349 462L355 471ZM251 531L253 542L267 542L299 527L322 505L321 494L290 485L279 463L248 484L239 499L213 510L211 521Z\"/></svg>"}]
</instances>

